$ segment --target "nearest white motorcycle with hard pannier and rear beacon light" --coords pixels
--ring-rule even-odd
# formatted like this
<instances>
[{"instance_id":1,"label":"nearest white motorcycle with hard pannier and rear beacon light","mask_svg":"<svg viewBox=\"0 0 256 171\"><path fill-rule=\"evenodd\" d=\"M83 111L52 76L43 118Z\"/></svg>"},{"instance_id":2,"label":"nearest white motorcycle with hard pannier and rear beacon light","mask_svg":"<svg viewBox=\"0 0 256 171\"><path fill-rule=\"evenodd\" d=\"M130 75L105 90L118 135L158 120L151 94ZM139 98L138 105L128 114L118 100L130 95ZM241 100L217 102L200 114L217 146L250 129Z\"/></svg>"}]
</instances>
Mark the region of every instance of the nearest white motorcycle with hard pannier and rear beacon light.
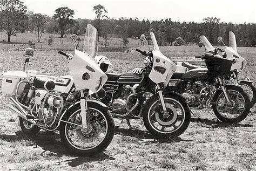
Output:
<instances>
[{"instance_id":1,"label":"nearest white motorcycle with hard pannier and rear beacon light","mask_svg":"<svg viewBox=\"0 0 256 171\"><path fill-rule=\"evenodd\" d=\"M75 45L76 35L71 38ZM92 58L97 54L97 40L97 30L87 25L84 52L75 48L72 56L59 51L68 58L70 76L28 70L31 48L25 50L23 71L3 74L2 90L11 95L10 109L19 115L25 134L58 130L65 148L82 155L97 154L109 146L114 135L113 117L102 102L88 99L107 80Z\"/></svg>"}]
</instances>

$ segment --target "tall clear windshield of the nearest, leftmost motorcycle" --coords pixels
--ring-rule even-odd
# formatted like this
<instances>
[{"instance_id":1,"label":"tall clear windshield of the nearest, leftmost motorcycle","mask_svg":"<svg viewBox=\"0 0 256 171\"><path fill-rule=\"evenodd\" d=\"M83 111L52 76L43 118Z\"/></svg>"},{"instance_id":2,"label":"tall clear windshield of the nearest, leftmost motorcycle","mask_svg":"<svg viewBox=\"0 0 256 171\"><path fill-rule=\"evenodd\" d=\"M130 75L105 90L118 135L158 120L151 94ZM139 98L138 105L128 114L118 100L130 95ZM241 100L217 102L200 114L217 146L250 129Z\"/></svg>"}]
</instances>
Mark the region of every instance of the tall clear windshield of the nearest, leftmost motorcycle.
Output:
<instances>
[{"instance_id":1,"label":"tall clear windshield of the nearest, leftmost motorcycle","mask_svg":"<svg viewBox=\"0 0 256 171\"><path fill-rule=\"evenodd\" d=\"M97 56L97 52L98 52L98 31L91 24L88 24L87 27L86 27L83 51L88 53L93 58L95 56Z\"/></svg>"}]
</instances>

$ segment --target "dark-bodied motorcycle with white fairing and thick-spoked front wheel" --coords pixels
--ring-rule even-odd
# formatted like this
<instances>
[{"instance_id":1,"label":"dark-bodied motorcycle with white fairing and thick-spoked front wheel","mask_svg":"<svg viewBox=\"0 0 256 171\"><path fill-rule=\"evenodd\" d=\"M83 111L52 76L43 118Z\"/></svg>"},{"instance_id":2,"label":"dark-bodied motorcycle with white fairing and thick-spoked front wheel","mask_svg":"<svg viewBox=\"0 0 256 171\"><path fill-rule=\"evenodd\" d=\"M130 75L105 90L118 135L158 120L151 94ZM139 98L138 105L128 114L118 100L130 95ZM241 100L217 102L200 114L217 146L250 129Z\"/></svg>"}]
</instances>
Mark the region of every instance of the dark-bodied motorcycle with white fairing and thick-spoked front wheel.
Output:
<instances>
[{"instance_id":1,"label":"dark-bodied motorcycle with white fairing and thick-spoked front wheel","mask_svg":"<svg viewBox=\"0 0 256 171\"><path fill-rule=\"evenodd\" d=\"M101 101L110 107L113 117L126 119L130 128L130 119L143 118L151 134L174 138L187 129L190 110L180 94L165 91L176 65L160 52L154 33L150 35L154 50L136 49L150 65L141 74L106 72L106 94Z\"/></svg>"}]
</instances>

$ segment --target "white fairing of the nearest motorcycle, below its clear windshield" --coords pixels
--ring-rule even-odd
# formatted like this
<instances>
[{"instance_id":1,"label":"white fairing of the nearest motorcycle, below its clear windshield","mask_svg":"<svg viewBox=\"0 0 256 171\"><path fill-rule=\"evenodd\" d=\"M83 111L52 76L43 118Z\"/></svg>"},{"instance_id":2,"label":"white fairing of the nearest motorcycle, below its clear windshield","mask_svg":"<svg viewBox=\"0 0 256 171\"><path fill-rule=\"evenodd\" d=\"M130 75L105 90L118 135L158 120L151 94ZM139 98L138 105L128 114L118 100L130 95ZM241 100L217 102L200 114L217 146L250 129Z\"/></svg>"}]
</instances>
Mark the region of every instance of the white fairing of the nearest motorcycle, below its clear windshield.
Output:
<instances>
[{"instance_id":1,"label":"white fairing of the nearest motorcycle, below its clear windshield","mask_svg":"<svg viewBox=\"0 0 256 171\"><path fill-rule=\"evenodd\" d=\"M77 90L87 88L96 93L107 80L106 74L98 67L93 58L89 54L78 50L75 50L75 55L69 63L69 70ZM85 73L90 76L87 80L83 79ZM96 83L100 78L102 78L102 81L96 90Z\"/></svg>"}]
</instances>

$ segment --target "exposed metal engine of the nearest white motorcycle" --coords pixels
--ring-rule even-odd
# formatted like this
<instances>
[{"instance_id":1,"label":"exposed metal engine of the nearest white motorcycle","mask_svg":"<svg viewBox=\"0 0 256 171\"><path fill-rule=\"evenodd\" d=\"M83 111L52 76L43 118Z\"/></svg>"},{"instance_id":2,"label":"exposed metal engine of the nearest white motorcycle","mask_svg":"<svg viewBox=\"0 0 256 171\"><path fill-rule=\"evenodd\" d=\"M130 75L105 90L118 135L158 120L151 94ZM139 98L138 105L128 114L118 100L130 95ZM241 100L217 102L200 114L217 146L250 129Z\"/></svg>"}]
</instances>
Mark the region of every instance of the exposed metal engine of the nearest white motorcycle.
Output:
<instances>
[{"instance_id":1,"label":"exposed metal engine of the nearest white motorcycle","mask_svg":"<svg viewBox=\"0 0 256 171\"><path fill-rule=\"evenodd\" d=\"M39 105L38 118L40 122L47 125L53 124L59 108L63 106L64 100L58 92L47 92L45 90L36 90L35 103Z\"/></svg>"}]
</instances>

